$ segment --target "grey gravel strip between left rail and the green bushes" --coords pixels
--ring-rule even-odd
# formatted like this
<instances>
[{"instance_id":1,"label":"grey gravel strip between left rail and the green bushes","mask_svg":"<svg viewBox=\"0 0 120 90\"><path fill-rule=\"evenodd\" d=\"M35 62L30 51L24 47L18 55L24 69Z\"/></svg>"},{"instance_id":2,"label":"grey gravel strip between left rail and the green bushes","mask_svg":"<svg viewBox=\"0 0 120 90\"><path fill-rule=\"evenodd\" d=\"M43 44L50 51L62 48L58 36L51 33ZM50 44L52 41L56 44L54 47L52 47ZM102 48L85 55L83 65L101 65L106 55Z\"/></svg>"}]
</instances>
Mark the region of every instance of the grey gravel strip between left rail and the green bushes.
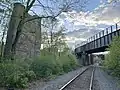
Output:
<instances>
[{"instance_id":1,"label":"grey gravel strip between left rail and the green bushes","mask_svg":"<svg viewBox=\"0 0 120 90\"><path fill-rule=\"evenodd\" d=\"M71 71L69 73L66 73L64 75L58 76L55 80L51 80L46 83L46 85L39 86L38 85L34 87L30 87L27 90L59 90L60 87L62 87L64 84L66 84L69 80L71 80L74 76L79 74L80 72L84 71L87 67L82 67L77 70Z\"/></svg>"}]
</instances>

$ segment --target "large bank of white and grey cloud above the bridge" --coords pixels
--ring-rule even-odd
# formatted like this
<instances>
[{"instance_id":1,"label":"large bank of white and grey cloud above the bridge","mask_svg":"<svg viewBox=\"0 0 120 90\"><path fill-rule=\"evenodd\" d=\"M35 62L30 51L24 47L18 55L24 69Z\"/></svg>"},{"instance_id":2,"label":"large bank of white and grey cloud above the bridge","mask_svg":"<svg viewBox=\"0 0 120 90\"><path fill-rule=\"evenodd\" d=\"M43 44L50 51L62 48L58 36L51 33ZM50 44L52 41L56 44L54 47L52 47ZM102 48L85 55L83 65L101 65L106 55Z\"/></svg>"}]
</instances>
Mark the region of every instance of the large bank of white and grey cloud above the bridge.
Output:
<instances>
[{"instance_id":1,"label":"large bank of white and grey cloud above the bridge","mask_svg":"<svg viewBox=\"0 0 120 90\"><path fill-rule=\"evenodd\" d=\"M102 1L101 1L102 2ZM115 3L102 3L92 12L68 12L63 13L59 19L68 30L66 40L70 47L75 43L85 41L92 35L104 30L110 25L120 21L120 1Z\"/></svg>"}]
</instances>

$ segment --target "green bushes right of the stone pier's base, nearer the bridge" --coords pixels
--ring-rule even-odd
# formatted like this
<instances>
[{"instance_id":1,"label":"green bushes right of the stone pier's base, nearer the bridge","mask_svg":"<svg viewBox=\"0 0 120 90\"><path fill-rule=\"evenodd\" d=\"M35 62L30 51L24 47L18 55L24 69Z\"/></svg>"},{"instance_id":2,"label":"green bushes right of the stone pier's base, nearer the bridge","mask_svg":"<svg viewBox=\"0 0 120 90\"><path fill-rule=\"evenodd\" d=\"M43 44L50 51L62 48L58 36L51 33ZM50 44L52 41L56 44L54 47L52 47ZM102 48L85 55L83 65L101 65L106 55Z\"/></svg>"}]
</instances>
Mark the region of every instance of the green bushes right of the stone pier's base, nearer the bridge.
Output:
<instances>
[{"instance_id":1,"label":"green bushes right of the stone pier's base, nearer the bridge","mask_svg":"<svg viewBox=\"0 0 120 90\"><path fill-rule=\"evenodd\" d=\"M42 54L41 54L42 55ZM53 75L59 75L63 72L69 72L77 67L75 57L73 55L54 54L42 55L36 58L31 64L31 69L37 77L49 78Z\"/></svg>"}]
</instances>

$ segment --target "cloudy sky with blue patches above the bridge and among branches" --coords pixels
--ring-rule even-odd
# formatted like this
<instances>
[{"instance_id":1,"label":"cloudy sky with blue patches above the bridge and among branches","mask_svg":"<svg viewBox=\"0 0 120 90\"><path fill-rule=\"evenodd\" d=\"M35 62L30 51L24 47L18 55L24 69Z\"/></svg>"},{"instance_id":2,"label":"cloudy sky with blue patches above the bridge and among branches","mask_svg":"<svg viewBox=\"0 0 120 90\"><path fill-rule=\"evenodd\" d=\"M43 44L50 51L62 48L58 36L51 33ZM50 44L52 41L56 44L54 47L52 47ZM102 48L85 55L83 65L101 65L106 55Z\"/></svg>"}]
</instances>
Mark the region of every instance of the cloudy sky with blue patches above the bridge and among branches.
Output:
<instances>
[{"instance_id":1,"label":"cloudy sky with blue patches above the bridge and among branches","mask_svg":"<svg viewBox=\"0 0 120 90\"><path fill-rule=\"evenodd\" d=\"M42 1L46 4L44 0ZM114 1L118 2L115 3ZM56 7L52 6L55 12L58 11ZM78 8L63 12L57 19L59 20L59 26L64 26L67 29L65 36L68 46L74 49L76 45L86 41L89 37L111 25L115 25L115 23L120 21L119 8L120 0L88 0L86 7L82 11ZM37 7L33 10L37 13L39 12L38 14L44 12Z\"/></svg>"}]
</instances>

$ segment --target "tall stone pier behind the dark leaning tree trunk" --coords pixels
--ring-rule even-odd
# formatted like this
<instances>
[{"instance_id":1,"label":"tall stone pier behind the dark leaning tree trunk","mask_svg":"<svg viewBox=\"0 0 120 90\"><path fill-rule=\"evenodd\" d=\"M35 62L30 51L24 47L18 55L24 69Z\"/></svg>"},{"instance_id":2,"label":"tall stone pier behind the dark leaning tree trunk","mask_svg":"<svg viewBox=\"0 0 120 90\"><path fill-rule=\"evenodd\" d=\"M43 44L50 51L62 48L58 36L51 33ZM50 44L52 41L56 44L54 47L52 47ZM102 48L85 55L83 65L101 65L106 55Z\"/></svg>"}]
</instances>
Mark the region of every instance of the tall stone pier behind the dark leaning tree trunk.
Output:
<instances>
[{"instance_id":1,"label":"tall stone pier behind the dark leaning tree trunk","mask_svg":"<svg viewBox=\"0 0 120 90\"><path fill-rule=\"evenodd\" d=\"M30 19L36 16L28 15L27 17L27 19ZM24 24L16 51L17 55L22 57L36 57L40 55L40 27L38 19Z\"/></svg>"}]
</instances>

